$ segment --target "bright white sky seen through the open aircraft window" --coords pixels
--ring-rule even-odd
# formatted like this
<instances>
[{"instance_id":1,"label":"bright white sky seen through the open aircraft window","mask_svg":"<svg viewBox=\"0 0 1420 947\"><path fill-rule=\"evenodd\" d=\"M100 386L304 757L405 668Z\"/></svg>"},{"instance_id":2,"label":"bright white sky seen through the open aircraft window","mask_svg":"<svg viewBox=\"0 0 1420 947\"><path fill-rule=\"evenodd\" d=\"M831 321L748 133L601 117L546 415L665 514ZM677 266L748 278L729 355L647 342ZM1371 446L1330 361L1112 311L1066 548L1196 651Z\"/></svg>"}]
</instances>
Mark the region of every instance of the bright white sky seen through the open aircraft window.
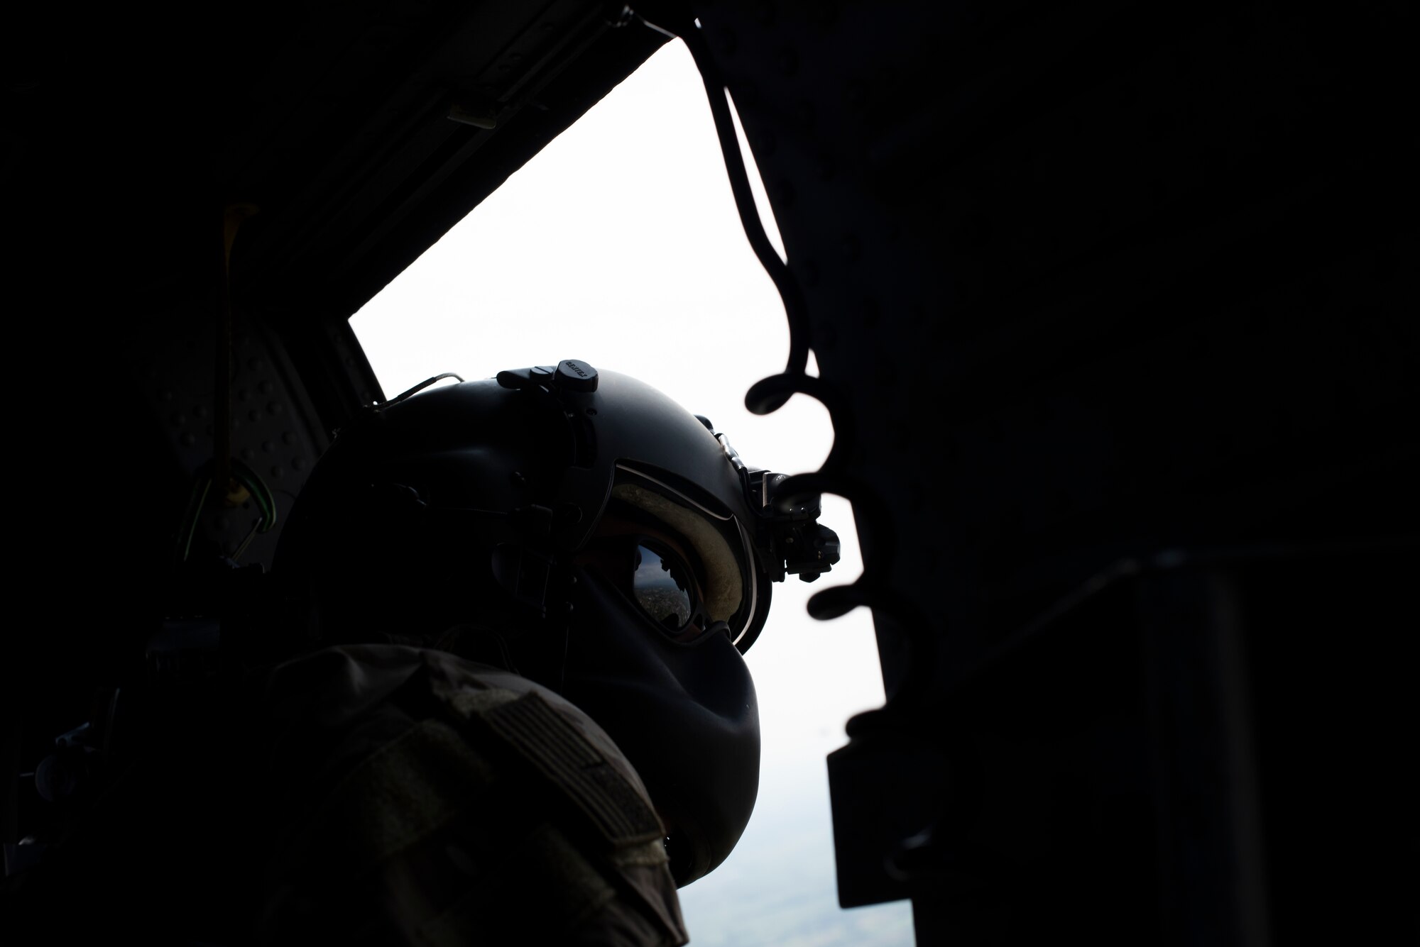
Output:
<instances>
[{"instance_id":1,"label":"bright white sky seen through the open aircraft window","mask_svg":"<svg viewBox=\"0 0 1420 947\"><path fill-rule=\"evenodd\" d=\"M510 177L352 326L388 397L442 371L471 380L582 359L707 415L753 466L812 471L832 444L828 413L802 396L767 417L744 408L748 387L784 367L788 327L744 237L680 41ZM848 503L825 496L822 522L842 539L842 561L814 584L775 585L747 655L764 733L760 798L728 861L680 892L696 946L913 943L906 902L838 907L824 757L846 741L843 722L882 705L883 692L869 614L805 614L809 594L862 571Z\"/></svg>"}]
</instances>

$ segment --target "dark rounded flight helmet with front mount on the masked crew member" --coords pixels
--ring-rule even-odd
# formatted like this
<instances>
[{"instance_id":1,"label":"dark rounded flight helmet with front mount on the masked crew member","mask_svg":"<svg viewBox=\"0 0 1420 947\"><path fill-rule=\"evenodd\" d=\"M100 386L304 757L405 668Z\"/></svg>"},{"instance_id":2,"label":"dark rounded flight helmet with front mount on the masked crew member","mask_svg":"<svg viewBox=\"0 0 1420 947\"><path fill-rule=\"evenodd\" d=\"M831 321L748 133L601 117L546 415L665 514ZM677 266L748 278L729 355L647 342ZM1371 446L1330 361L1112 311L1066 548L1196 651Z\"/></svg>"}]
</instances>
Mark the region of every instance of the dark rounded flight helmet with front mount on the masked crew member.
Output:
<instances>
[{"instance_id":1,"label":"dark rounded flight helmet with front mount on the masked crew member","mask_svg":"<svg viewBox=\"0 0 1420 947\"><path fill-rule=\"evenodd\" d=\"M579 360L507 370L416 388L339 431L275 568L302 573L327 603L358 601L346 621L395 618L371 608L371 583L413 584L430 605L463 585L500 620L545 620L565 608L561 567L619 510L682 539L629 550L626 591L672 638L724 634L743 654L771 583L816 578L838 560L818 498L785 502L785 479L746 465L707 418L629 376ZM450 567L452 584L440 574ZM452 621L466 605L433 611ZM408 603L398 621L408 625Z\"/></svg>"}]
</instances>

